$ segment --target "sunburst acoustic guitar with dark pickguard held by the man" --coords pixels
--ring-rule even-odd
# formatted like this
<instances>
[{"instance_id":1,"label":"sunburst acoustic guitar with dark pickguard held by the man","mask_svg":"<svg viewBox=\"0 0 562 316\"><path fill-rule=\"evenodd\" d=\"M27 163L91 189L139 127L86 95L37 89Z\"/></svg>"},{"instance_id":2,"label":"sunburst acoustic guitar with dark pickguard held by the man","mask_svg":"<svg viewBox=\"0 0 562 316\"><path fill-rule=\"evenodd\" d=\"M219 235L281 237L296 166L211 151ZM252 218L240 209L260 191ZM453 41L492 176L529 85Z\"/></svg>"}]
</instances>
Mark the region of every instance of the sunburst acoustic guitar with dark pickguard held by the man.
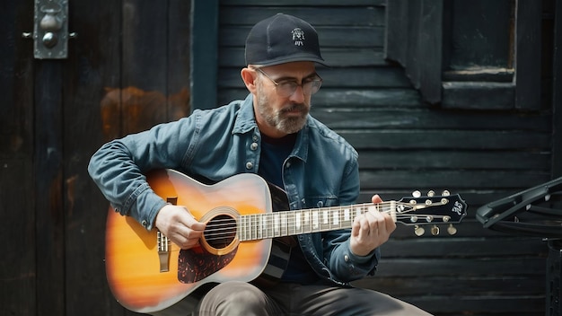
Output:
<instances>
[{"instance_id":1,"label":"sunburst acoustic guitar with dark pickguard held by the man","mask_svg":"<svg viewBox=\"0 0 562 316\"><path fill-rule=\"evenodd\" d=\"M435 224L461 223L467 208L459 195L442 195L288 211L285 192L251 173L213 185L167 169L146 176L161 198L206 222L200 246L180 250L156 228L146 231L110 208L105 253L110 289L128 310L160 315L175 314L202 285L281 276L288 255L277 251L283 243L273 242L281 237L349 229L356 215L370 210L418 229L432 224L435 233Z\"/></svg>"}]
</instances>

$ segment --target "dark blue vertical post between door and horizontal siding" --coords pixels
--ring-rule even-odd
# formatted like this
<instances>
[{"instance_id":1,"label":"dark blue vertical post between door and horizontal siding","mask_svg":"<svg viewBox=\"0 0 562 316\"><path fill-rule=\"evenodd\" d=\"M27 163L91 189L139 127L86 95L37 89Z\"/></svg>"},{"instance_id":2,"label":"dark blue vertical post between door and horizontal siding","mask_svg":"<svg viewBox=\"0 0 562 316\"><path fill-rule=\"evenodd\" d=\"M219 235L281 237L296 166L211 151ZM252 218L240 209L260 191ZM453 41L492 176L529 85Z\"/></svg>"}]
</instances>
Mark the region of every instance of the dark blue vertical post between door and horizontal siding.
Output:
<instances>
[{"instance_id":1,"label":"dark blue vertical post between door and horizontal siding","mask_svg":"<svg viewBox=\"0 0 562 316\"><path fill-rule=\"evenodd\" d=\"M193 1L192 5L191 110L212 109L216 107L218 72L218 0Z\"/></svg>"}]
</instances>

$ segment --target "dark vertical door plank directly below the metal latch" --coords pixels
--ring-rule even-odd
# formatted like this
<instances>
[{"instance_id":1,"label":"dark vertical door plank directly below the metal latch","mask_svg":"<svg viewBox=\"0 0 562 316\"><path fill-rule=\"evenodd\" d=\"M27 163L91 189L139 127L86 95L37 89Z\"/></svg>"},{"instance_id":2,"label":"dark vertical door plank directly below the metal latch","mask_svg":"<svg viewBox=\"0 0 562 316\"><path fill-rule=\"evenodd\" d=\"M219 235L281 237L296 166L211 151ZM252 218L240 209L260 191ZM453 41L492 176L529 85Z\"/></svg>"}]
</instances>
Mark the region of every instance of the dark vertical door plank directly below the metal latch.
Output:
<instances>
[{"instance_id":1,"label":"dark vertical door plank directly below the metal latch","mask_svg":"<svg viewBox=\"0 0 562 316\"><path fill-rule=\"evenodd\" d=\"M35 71L34 174L37 309L65 314L62 60L42 60Z\"/></svg>"}]
</instances>

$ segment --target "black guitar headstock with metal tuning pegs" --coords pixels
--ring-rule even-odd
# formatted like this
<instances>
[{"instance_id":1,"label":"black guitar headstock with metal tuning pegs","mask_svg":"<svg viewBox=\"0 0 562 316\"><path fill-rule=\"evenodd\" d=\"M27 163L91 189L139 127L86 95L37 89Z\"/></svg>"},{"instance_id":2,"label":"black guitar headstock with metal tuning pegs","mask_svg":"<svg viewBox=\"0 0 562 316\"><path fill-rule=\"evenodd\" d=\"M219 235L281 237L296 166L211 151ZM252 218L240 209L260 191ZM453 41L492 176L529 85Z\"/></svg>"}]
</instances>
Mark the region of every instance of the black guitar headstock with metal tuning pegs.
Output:
<instances>
[{"instance_id":1,"label":"black guitar headstock with metal tuning pegs","mask_svg":"<svg viewBox=\"0 0 562 316\"><path fill-rule=\"evenodd\" d=\"M449 234L457 233L452 224L461 223L467 215L467 204L458 194L451 195L443 191L442 195L435 196L430 191L427 196L422 197L419 191L413 193L412 197L401 198L396 206L396 221L405 225L415 227L414 233L421 236L425 233L423 225L432 225L431 233L439 234L437 224L448 224Z\"/></svg>"}]
</instances>

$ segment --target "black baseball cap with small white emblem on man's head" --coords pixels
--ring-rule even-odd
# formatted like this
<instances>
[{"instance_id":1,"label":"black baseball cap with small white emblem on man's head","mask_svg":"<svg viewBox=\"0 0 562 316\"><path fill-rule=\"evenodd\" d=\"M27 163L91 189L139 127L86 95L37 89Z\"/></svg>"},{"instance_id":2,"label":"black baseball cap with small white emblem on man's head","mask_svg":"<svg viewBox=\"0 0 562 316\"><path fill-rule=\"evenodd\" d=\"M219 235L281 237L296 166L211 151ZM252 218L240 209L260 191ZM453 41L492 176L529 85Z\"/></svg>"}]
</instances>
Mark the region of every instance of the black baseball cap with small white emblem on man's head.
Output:
<instances>
[{"instance_id":1,"label":"black baseball cap with small white emblem on man's head","mask_svg":"<svg viewBox=\"0 0 562 316\"><path fill-rule=\"evenodd\" d=\"M294 61L326 65L312 25L283 13L254 25L246 39L245 57L246 65L274 66Z\"/></svg>"}]
</instances>

